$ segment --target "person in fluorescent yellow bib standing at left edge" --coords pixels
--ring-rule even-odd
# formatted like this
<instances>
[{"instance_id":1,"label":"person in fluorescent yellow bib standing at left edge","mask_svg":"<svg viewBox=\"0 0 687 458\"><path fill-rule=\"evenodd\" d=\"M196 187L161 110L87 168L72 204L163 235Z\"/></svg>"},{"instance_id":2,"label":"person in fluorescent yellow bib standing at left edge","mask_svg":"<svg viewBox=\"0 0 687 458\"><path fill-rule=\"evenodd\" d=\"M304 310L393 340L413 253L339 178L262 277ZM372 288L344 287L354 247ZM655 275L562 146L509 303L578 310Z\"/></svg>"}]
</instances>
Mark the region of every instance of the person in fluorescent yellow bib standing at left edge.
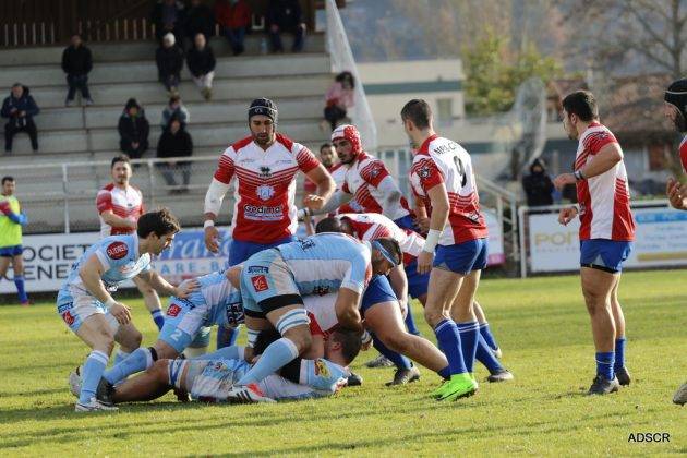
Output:
<instances>
[{"instance_id":1,"label":"person in fluorescent yellow bib standing at left edge","mask_svg":"<svg viewBox=\"0 0 687 458\"><path fill-rule=\"evenodd\" d=\"M28 296L24 289L24 258L22 253L22 226L26 225L26 215L22 212L14 196L16 183L12 177L2 177L0 194L0 280L8 273L10 264L14 270L14 286L20 303L28 305Z\"/></svg>"}]
</instances>

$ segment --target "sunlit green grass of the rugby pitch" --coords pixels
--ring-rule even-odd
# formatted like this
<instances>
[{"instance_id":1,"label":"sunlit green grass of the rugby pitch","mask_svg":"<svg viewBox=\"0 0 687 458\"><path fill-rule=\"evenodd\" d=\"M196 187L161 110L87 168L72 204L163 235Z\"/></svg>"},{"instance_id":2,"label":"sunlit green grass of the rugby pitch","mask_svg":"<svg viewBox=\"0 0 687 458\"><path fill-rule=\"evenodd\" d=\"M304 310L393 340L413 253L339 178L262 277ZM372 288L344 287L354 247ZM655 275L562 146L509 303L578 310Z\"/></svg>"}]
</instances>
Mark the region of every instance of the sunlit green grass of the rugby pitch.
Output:
<instances>
[{"instance_id":1,"label":"sunlit green grass of the rugby pitch","mask_svg":"<svg viewBox=\"0 0 687 458\"><path fill-rule=\"evenodd\" d=\"M274 406L180 405L170 395L117 413L77 414L67 375L87 353L55 306L0 308L0 455L648 455L687 453L687 409L671 398L687 377L685 287L678 272L629 273L630 387L587 397L593 348L578 278L485 280L479 293L515 373L457 402L427 398L438 379L387 388L391 370L354 369L360 388L332 399ZM135 323L155 339L140 300ZM415 306L415 313L420 312ZM424 325L421 315L419 322ZM426 325L425 336L431 336ZM479 367L478 375L486 373ZM667 432L670 443L628 443Z\"/></svg>"}]
</instances>

